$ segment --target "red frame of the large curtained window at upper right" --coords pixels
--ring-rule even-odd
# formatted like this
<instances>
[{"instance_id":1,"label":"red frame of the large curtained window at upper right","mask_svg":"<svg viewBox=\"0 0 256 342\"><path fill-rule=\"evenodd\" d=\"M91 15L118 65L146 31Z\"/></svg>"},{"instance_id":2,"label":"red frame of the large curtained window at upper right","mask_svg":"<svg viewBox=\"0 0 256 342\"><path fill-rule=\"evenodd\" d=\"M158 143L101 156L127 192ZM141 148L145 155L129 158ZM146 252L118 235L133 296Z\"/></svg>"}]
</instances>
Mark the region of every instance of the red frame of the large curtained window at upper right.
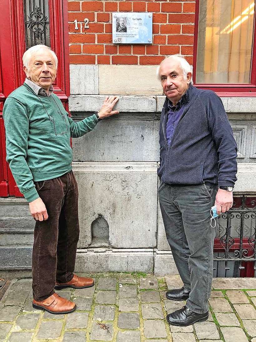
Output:
<instances>
[{"instance_id":1,"label":"red frame of the large curtained window at upper right","mask_svg":"<svg viewBox=\"0 0 256 342\"><path fill-rule=\"evenodd\" d=\"M195 17L195 34L194 34L194 59L193 59L193 78L194 85L200 89L210 89L215 91L219 96L231 97L255 97L256 96L256 20L254 18L254 35L253 35L253 49L252 49L252 69L251 69L251 83L248 84L232 84L232 83L196 83L196 65L197 65L197 42L198 42L198 24L199 24L199 2L196 0L196 17ZM256 2L256 0L255 0ZM255 15L256 16L256 15Z\"/></svg>"}]
</instances>

